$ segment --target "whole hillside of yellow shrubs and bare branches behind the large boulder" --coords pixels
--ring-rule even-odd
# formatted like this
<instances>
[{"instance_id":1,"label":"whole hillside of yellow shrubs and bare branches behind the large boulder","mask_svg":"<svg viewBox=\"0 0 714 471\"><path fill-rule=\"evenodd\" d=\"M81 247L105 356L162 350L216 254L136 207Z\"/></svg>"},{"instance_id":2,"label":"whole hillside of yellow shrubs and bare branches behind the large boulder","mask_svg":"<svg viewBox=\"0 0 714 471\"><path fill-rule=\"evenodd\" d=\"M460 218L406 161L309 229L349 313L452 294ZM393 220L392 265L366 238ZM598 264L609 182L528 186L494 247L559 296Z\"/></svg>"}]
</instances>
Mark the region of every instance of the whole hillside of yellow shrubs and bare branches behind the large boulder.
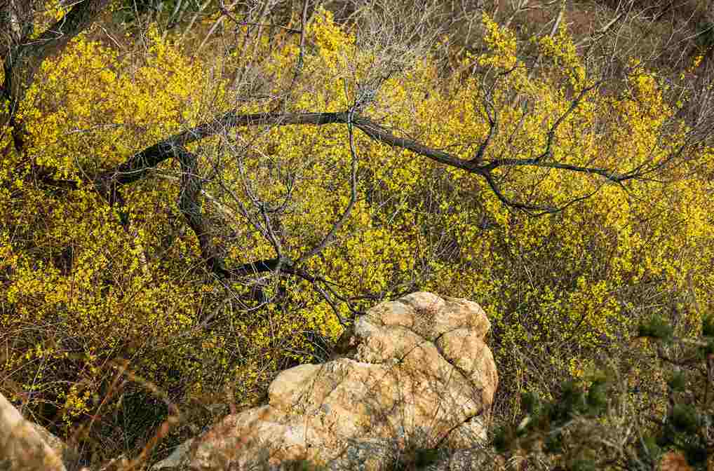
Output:
<instances>
[{"instance_id":1,"label":"whole hillside of yellow shrubs and bare branches behind the large boulder","mask_svg":"<svg viewBox=\"0 0 714 471\"><path fill-rule=\"evenodd\" d=\"M2 393L136 455L424 290L488 313L494 424L625 357L664 413L634 339L714 312L714 16L502 3L0 6Z\"/></svg>"}]
</instances>

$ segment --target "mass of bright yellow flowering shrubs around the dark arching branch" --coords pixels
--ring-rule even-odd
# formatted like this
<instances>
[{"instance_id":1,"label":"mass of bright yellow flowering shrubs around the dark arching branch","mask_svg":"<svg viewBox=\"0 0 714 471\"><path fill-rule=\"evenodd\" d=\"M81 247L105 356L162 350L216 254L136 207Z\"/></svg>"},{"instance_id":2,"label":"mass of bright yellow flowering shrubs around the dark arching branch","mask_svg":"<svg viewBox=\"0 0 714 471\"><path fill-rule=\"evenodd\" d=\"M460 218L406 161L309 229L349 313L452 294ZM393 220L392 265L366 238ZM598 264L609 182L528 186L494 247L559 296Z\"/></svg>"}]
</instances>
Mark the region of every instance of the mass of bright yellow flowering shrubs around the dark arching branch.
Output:
<instances>
[{"instance_id":1,"label":"mass of bright yellow flowering shrubs around the dark arching branch","mask_svg":"<svg viewBox=\"0 0 714 471\"><path fill-rule=\"evenodd\" d=\"M464 61L501 74L490 97L480 76L443 78L426 56L386 78L367 115L468 160L488 133L488 98L499 127L486 161L540 155L548 130L595 80L565 29L534 39L546 65L531 76L515 36L487 16L483 26L489 51ZM288 111L343 111L371 77L374 58L325 11L307 36ZM236 106L267 111L259 101L239 101L231 88L239 61L253 57L224 57L219 72L213 56L192 57L171 36L150 30L147 41L137 59L79 36L48 59L18 115L29 133L26 152L0 164L0 331L10 333L9 355L0 359L24 390L64 408L68 423L99 406L91 401L113 378L109 366L117 358L179 398L225 383L250 398L277 369L313 358L308 333L334 340L342 331L331 305L305 280L269 285L268 293L283 290L282 301L245 310L233 299L248 288L227 289L203 273L198 243L177 208L177 163L121 188L125 208L111 207L83 183L84 175L114 168L210 116ZM263 41L261 48L261 73L271 78L268 92L277 93L292 80L298 46L271 49ZM660 80L635 70L621 96L598 88L583 94L555 131L548 158L625 173L683 146L688 129L673 120ZM518 358L579 376L642 315L677 308L694 318L712 307L712 183L693 163L663 166L651 181L627 181L624 189L553 168L495 171L508 198L564 207L533 218L504 206L476 175L360 131L355 141L358 201L337 242L303 268L359 308L403 287L476 300L493 322L503 388L536 377ZM245 143L250 148L240 156L226 151ZM295 176L281 218L291 259L319 243L348 205L344 125L236 128L191 151L201 158L211 196L203 212L216 223L229 266L275 256L239 210L250 207L250 196L276 204L285 198L276 168ZM700 161L714 154L698 152ZM28 161L79 188L34 185ZM128 230L119 210L128 213ZM346 303L338 309L349 314Z\"/></svg>"}]
</instances>

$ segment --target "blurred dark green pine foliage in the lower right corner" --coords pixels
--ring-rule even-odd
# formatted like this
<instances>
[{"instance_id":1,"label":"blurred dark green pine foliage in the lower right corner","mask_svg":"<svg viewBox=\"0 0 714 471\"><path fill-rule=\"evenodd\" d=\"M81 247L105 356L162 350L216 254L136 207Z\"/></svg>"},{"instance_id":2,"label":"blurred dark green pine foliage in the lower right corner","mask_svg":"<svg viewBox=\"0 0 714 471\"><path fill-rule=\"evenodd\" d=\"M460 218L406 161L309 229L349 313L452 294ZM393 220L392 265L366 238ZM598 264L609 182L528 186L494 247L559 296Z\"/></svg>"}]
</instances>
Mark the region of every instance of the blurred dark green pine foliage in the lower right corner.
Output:
<instances>
[{"instance_id":1,"label":"blurred dark green pine foliage in the lower right corner","mask_svg":"<svg viewBox=\"0 0 714 471\"><path fill-rule=\"evenodd\" d=\"M506 456L540 458L564 470L655 470L665 453L681 455L694 470L707 470L714 452L710 317L701 328L696 340L675 338L662 318L638 328L641 337L654 339L645 357L666 378L658 415L628 407L643 391L628 388L610 359L583 382L563 385L550 400L523 393L524 417L501 425L493 446ZM665 352L668 345L678 347L670 349L676 356ZM623 410L629 412L619 415Z\"/></svg>"}]
</instances>

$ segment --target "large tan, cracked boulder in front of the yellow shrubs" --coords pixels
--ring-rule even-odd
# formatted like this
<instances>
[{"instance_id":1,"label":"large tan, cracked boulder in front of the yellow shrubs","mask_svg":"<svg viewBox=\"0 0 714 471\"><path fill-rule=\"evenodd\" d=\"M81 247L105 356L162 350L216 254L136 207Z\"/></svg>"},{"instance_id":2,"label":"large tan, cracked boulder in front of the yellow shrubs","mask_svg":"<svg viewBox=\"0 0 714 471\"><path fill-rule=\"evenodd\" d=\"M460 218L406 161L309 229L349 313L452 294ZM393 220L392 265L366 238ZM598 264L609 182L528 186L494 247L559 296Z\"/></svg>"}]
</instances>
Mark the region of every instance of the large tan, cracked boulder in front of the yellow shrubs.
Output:
<instances>
[{"instance_id":1,"label":"large tan, cracked boulder in front of the yellow shrubs","mask_svg":"<svg viewBox=\"0 0 714 471\"><path fill-rule=\"evenodd\" d=\"M344 333L331 360L283 371L266 405L228 415L168 467L286 469L307 460L373 470L415 447L473 447L486 440L498 384L484 343L490 327L468 300L413 293L381 303Z\"/></svg>"}]
</instances>

